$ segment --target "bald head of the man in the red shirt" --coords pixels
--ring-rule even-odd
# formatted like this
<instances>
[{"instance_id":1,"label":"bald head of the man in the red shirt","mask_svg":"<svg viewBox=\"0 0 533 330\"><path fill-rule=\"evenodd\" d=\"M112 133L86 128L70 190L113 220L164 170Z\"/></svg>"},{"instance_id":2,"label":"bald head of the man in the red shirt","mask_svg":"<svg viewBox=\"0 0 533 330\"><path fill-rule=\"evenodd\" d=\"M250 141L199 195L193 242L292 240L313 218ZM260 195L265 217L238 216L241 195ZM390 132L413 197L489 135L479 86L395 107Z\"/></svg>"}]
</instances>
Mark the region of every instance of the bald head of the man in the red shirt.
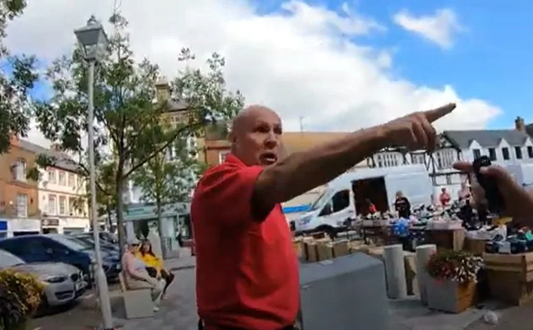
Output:
<instances>
[{"instance_id":1,"label":"bald head of the man in the red shirt","mask_svg":"<svg viewBox=\"0 0 533 330\"><path fill-rule=\"evenodd\" d=\"M248 166L273 164L278 159L281 119L268 107L251 105L232 122L232 153Z\"/></svg>"}]
</instances>

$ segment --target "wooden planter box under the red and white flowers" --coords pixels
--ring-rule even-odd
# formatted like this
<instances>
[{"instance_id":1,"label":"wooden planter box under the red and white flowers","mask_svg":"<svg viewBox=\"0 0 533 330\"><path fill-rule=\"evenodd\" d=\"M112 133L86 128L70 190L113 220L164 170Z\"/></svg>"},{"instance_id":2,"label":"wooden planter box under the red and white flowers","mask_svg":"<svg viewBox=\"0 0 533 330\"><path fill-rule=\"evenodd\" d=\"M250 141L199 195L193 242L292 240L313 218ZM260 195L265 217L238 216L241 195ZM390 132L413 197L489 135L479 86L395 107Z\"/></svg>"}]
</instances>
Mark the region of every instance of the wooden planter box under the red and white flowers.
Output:
<instances>
[{"instance_id":1,"label":"wooden planter box under the red and white flowers","mask_svg":"<svg viewBox=\"0 0 533 330\"><path fill-rule=\"evenodd\" d=\"M476 283L460 284L454 281L437 282L430 279L427 283L428 308L461 313L475 304Z\"/></svg>"}]
</instances>

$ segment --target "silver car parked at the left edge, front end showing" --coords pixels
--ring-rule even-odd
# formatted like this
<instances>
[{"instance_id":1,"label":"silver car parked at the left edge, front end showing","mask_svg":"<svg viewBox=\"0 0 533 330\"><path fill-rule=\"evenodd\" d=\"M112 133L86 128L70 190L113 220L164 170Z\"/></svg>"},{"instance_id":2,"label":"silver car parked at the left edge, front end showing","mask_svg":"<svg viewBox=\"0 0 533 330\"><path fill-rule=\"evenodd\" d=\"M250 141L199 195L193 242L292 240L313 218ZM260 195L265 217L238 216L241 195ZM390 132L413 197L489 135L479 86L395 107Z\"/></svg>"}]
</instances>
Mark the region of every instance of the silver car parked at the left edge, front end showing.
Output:
<instances>
[{"instance_id":1,"label":"silver car parked at the left edge, front end showing","mask_svg":"<svg viewBox=\"0 0 533 330\"><path fill-rule=\"evenodd\" d=\"M0 269L10 268L37 276L44 285L46 306L72 302L85 292L87 282L78 268L66 263L25 263L18 256L0 250Z\"/></svg>"}]
</instances>

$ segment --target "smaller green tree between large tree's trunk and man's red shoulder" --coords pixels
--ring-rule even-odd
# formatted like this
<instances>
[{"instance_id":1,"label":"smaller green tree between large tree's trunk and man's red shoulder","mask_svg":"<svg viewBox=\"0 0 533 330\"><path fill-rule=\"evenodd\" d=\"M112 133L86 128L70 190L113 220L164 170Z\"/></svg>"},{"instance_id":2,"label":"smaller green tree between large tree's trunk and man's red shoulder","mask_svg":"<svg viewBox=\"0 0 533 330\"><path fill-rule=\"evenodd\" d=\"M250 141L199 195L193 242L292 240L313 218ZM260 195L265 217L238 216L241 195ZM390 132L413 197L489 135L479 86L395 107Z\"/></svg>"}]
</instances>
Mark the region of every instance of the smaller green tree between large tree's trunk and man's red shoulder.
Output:
<instances>
[{"instance_id":1,"label":"smaller green tree between large tree's trunk and man's red shoulder","mask_svg":"<svg viewBox=\"0 0 533 330\"><path fill-rule=\"evenodd\" d=\"M154 144L164 143L154 141ZM188 143L190 139L179 138L166 150L150 159L133 173L133 183L142 191L144 201L155 202L157 228L161 237L161 249L166 256L163 232L162 209L165 204L187 202L202 167L196 161L195 150Z\"/></svg>"}]
</instances>

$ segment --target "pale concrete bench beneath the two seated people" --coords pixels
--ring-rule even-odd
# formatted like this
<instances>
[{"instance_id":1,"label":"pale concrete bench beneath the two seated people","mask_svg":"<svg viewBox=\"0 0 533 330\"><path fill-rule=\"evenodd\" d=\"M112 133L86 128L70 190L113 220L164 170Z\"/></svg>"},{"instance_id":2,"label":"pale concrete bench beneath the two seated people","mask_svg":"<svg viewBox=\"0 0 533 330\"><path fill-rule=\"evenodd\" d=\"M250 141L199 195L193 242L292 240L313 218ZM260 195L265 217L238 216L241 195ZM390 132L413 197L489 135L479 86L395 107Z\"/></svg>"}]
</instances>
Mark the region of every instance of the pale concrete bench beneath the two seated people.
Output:
<instances>
[{"instance_id":1,"label":"pale concrete bench beneath the two seated people","mask_svg":"<svg viewBox=\"0 0 533 330\"><path fill-rule=\"evenodd\" d=\"M151 289L128 289L124 274L118 274L120 289L124 298L124 313L127 319L153 317Z\"/></svg>"}]
</instances>

